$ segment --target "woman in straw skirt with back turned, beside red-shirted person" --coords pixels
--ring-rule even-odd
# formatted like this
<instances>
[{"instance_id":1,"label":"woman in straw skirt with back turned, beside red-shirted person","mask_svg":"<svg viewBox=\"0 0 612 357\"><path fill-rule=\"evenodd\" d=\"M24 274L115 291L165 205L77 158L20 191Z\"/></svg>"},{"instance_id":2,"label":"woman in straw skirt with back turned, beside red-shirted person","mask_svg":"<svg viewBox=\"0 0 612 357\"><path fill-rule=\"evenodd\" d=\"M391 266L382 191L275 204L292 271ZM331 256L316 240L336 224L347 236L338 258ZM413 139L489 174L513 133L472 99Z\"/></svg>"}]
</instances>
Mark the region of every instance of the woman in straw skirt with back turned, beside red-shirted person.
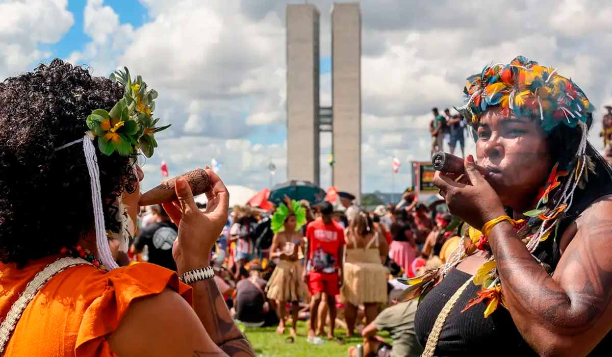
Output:
<instances>
[{"instance_id":1,"label":"woman in straw skirt with back turned, beside red-shirted person","mask_svg":"<svg viewBox=\"0 0 612 357\"><path fill-rule=\"evenodd\" d=\"M353 337L357 307L365 306L366 323L378 315L378 304L387 303L389 270L381 257L389 253L387 241L374 227L370 216L361 211L346 230L344 284L341 295L346 303L346 337Z\"/></svg>"}]
</instances>

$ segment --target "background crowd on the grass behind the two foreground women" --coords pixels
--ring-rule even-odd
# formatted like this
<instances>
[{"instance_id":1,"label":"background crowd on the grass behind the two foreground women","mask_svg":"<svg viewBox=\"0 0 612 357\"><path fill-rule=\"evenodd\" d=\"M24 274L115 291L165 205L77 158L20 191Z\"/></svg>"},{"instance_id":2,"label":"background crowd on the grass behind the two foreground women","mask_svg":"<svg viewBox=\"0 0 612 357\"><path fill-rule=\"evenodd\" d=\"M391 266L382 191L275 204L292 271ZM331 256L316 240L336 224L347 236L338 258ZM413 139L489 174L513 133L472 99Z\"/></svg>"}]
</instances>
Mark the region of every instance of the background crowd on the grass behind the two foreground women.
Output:
<instances>
[{"instance_id":1,"label":"background crowd on the grass behind the two foreground women","mask_svg":"<svg viewBox=\"0 0 612 357\"><path fill-rule=\"evenodd\" d=\"M458 244L453 217L443 202L419 203L412 189L397 205L370 212L357 208L354 195L339 196L338 205L286 198L269 211L234 206L211 254L226 304L247 327L275 325L285 334L289 326L288 342L297 338L301 319L309 320L305 335L312 344L343 344L335 334L340 325L346 337L363 334L367 351L420 355L412 326L416 304L398 301L405 285L397 278L446 261ZM162 206L143 208L138 222L132 260L176 269L171 247L178 228ZM376 337L383 329L392 331L394 347Z\"/></svg>"}]
</instances>

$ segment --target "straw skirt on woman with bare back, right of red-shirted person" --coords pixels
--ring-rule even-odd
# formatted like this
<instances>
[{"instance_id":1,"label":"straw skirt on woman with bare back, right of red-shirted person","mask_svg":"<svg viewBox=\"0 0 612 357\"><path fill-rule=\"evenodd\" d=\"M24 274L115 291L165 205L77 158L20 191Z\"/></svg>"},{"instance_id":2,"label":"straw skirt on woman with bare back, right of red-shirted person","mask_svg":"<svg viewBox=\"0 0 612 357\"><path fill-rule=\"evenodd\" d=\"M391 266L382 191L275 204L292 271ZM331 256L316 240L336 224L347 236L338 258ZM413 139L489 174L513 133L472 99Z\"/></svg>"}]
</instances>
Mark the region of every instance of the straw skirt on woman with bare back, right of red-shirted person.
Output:
<instances>
[{"instance_id":1,"label":"straw skirt on woman with bare back, right of red-shirted person","mask_svg":"<svg viewBox=\"0 0 612 357\"><path fill-rule=\"evenodd\" d=\"M353 305L387 303L389 270L381 264L378 248L346 249L343 301Z\"/></svg>"}]
</instances>

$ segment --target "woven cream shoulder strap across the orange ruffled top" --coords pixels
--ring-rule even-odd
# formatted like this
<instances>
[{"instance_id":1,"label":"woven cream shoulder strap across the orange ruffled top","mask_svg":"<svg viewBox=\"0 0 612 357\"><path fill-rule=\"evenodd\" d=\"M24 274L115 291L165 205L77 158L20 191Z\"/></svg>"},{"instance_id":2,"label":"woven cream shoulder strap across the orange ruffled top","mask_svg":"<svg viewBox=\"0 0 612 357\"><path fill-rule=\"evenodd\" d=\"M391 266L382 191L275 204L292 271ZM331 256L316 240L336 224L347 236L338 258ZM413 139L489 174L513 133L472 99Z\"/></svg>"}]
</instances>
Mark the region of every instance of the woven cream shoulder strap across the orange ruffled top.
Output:
<instances>
[{"instance_id":1,"label":"woven cream shoulder strap across the orange ruffled top","mask_svg":"<svg viewBox=\"0 0 612 357\"><path fill-rule=\"evenodd\" d=\"M9 313L6 315L2 325L0 325L0 356L4 353L7 343L9 342L10 336L15 330L15 326L21 318L26 307L34 299L34 296L47 284L52 277L56 276L59 272L70 268L71 266L90 264L88 261L81 258L60 258L53 263L45 266L42 271L34 276L32 280L26 285L26 290L21 293L17 301L10 307Z\"/></svg>"}]
</instances>

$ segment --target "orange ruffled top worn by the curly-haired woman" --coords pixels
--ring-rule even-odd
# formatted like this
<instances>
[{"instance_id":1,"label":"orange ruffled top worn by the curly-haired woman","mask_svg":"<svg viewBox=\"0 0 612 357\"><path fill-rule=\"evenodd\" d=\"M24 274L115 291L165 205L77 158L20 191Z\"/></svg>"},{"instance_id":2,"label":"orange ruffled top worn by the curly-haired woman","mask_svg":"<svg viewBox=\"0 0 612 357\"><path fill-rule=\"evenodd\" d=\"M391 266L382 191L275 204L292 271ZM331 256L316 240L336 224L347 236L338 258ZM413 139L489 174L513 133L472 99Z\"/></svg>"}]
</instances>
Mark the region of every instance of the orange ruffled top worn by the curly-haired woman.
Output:
<instances>
[{"instance_id":1,"label":"orange ruffled top worn by the curly-haired woman","mask_svg":"<svg viewBox=\"0 0 612 357\"><path fill-rule=\"evenodd\" d=\"M35 260L23 269L0 263L0 320L28 282L58 256ZM4 351L17 356L113 356L105 337L116 330L138 298L171 288L192 304L192 290L176 272L139 263L102 271L90 265L59 272L32 299Z\"/></svg>"}]
</instances>

